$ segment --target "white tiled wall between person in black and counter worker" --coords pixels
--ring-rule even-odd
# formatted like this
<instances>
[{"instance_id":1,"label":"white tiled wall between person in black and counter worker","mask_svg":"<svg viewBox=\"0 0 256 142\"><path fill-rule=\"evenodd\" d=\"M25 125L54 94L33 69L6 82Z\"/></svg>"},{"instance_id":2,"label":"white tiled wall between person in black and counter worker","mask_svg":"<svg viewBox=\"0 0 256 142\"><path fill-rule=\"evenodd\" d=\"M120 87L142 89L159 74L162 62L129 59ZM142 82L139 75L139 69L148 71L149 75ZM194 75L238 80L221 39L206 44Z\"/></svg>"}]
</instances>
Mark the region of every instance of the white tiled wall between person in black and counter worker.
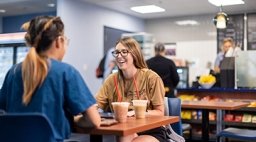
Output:
<instances>
[{"instance_id":1,"label":"white tiled wall between person in black and counter worker","mask_svg":"<svg viewBox=\"0 0 256 142\"><path fill-rule=\"evenodd\" d=\"M177 42L176 56L190 62L189 85L196 76L209 74L207 63L214 64L217 53L217 42L214 40L180 41ZM213 67L213 66L212 66Z\"/></svg>"}]
</instances>

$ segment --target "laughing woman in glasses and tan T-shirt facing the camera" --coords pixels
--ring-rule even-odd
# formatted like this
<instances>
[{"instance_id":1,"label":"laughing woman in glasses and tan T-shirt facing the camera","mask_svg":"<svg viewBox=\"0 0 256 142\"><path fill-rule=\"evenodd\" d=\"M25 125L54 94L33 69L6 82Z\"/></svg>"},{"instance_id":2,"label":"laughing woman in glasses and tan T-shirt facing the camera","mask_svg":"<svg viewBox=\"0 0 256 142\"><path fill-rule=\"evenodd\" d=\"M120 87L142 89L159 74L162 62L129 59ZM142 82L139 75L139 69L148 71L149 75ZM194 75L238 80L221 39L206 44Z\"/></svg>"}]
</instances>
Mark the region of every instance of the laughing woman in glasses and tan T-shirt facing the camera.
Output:
<instances>
[{"instance_id":1,"label":"laughing woman in glasses and tan T-shirt facing the camera","mask_svg":"<svg viewBox=\"0 0 256 142\"><path fill-rule=\"evenodd\" d=\"M147 115L164 115L164 85L161 78L147 68L138 42L125 37L120 39L112 52L118 66L118 72L107 77L96 94L98 107L110 112L111 103L117 101L132 102L132 100L148 100ZM130 107L131 109L132 107ZM134 115L134 111L128 112ZM151 141L165 142L166 131L159 127L142 133L126 136L120 141Z\"/></svg>"}]
</instances>

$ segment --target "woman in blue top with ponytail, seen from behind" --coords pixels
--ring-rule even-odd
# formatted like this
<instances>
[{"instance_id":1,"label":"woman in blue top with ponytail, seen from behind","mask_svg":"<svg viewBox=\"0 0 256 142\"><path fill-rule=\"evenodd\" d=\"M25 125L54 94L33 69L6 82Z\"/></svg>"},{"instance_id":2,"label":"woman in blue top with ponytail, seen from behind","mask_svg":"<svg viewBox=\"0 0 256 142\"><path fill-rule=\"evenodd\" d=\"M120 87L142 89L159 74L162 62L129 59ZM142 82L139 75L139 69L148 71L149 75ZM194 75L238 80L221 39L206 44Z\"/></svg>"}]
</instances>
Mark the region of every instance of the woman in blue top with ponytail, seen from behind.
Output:
<instances>
[{"instance_id":1,"label":"woman in blue top with ponytail, seen from behind","mask_svg":"<svg viewBox=\"0 0 256 142\"><path fill-rule=\"evenodd\" d=\"M77 121L98 127L100 115L95 98L79 72L61 62L69 39L60 17L35 17L22 28L31 48L24 61L8 71L0 92L0 109L47 116L56 141L64 141L71 135L66 116L82 114Z\"/></svg>"}]
</instances>

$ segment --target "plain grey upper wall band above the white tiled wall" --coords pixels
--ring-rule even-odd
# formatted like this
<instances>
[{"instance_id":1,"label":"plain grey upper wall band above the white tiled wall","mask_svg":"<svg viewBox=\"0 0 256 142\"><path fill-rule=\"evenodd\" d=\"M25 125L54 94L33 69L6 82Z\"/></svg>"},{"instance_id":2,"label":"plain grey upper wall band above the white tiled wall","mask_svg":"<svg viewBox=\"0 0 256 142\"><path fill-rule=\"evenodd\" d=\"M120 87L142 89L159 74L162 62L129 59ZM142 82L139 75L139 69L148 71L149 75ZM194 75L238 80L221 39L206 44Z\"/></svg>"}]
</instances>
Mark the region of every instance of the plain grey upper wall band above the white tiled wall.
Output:
<instances>
[{"instance_id":1,"label":"plain grey upper wall band above the white tiled wall","mask_svg":"<svg viewBox=\"0 0 256 142\"><path fill-rule=\"evenodd\" d=\"M156 41L198 41L216 40L216 28L212 22L214 15L200 15L177 18L160 18L146 20L145 30L154 34ZM195 20L199 25L179 26L175 22Z\"/></svg>"}]
</instances>

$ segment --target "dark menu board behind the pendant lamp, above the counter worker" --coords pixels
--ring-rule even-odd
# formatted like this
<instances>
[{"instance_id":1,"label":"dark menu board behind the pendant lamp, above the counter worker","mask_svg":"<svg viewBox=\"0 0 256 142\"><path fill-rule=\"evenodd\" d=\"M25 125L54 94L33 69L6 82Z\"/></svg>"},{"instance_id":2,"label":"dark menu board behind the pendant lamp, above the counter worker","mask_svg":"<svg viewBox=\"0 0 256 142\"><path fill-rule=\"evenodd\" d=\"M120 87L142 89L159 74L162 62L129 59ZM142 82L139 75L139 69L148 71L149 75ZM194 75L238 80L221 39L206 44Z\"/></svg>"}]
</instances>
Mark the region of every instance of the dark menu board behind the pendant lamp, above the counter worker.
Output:
<instances>
[{"instance_id":1,"label":"dark menu board behind the pendant lamp, above the counter worker","mask_svg":"<svg viewBox=\"0 0 256 142\"><path fill-rule=\"evenodd\" d=\"M244 49L244 14L228 15L228 18L227 28L217 29L218 52L221 49L223 39L227 37L234 40L235 46Z\"/></svg>"}]
</instances>

